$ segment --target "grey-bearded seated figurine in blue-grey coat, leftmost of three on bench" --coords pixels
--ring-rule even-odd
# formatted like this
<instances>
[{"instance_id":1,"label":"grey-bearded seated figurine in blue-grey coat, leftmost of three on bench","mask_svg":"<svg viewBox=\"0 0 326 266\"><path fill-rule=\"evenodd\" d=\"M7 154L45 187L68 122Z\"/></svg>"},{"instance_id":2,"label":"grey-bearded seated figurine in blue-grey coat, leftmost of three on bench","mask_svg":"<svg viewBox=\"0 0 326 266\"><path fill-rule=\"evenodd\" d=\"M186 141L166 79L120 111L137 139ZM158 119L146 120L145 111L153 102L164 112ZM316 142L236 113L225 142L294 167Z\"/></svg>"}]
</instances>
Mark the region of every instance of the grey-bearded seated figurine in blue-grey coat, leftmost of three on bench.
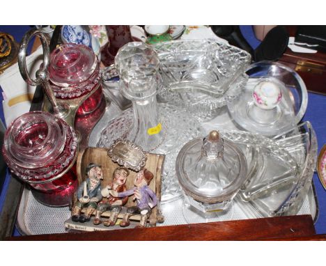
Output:
<instances>
[{"instance_id":1,"label":"grey-bearded seated figurine in blue-grey coat, leftmost of three on bench","mask_svg":"<svg viewBox=\"0 0 326 266\"><path fill-rule=\"evenodd\" d=\"M78 201L72 210L71 217L72 221L80 221L81 223L91 219L91 214L102 199L100 180L103 179L103 173L101 166L93 163L88 164L86 176L86 180L77 189ZM84 214L81 214L82 208L86 208Z\"/></svg>"}]
</instances>

